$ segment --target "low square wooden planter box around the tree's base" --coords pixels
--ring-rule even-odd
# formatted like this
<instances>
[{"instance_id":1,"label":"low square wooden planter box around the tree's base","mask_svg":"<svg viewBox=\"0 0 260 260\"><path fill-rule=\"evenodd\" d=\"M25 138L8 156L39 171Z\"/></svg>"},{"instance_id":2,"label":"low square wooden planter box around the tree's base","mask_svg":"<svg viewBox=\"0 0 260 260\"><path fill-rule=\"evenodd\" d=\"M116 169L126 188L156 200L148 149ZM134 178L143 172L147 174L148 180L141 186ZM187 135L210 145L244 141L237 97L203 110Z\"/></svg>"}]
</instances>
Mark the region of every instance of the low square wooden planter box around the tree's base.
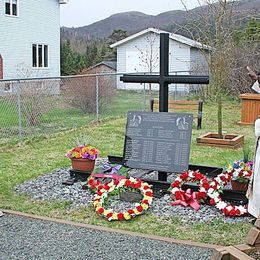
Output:
<instances>
[{"instance_id":1,"label":"low square wooden planter box around the tree's base","mask_svg":"<svg viewBox=\"0 0 260 260\"><path fill-rule=\"evenodd\" d=\"M224 138L218 138L217 133L207 133L200 137L197 137L197 144L198 145L206 145L206 146L215 146L215 147L222 147L222 148L231 148L236 149L244 144L244 136L237 135L237 134L227 134L223 135Z\"/></svg>"}]
</instances>

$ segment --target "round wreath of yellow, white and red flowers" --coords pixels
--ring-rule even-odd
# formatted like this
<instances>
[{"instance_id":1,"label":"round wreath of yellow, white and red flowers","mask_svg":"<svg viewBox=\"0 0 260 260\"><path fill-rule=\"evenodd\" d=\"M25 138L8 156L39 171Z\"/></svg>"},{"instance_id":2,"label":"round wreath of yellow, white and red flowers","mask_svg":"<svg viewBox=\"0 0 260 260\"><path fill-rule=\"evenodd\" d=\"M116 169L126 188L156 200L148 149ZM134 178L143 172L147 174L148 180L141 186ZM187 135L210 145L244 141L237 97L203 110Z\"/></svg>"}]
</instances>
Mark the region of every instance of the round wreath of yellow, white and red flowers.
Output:
<instances>
[{"instance_id":1,"label":"round wreath of yellow, white and red flowers","mask_svg":"<svg viewBox=\"0 0 260 260\"><path fill-rule=\"evenodd\" d=\"M133 189L140 190L141 194L143 195L142 200L140 203L136 203L135 208L129 209L125 212L114 212L113 209L106 209L104 204L109 196L109 193L117 190L121 187L129 187ZM129 220L134 218L137 215L142 214L145 210L149 208L153 199L153 191L151 189L151 185L134 178L130 179L122 179L112 180L108 185L104 186L102 189L97 191L94 197L93 205L95 207L95 211L100 216L105 217L107 220Z\"/></svg>"}]
</instances>

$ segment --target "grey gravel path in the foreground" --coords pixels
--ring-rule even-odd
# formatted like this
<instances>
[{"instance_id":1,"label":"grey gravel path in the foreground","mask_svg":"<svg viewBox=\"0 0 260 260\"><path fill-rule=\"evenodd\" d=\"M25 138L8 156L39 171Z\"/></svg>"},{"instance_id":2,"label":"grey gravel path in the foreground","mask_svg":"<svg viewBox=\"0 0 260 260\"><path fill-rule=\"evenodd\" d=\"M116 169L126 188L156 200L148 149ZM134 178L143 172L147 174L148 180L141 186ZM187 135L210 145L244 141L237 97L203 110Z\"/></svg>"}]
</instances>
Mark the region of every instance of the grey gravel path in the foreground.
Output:
<instances>
[{"instance_id":1,"label":"grey gravel path in the foreground","mask_svg":"<svg viewBox=\"0 0 260 260\"><path fill-rule=\"evenodd\" d=\"M4 214L0 259L210 259L211 249Z\"/></svg>"}]
</instances>

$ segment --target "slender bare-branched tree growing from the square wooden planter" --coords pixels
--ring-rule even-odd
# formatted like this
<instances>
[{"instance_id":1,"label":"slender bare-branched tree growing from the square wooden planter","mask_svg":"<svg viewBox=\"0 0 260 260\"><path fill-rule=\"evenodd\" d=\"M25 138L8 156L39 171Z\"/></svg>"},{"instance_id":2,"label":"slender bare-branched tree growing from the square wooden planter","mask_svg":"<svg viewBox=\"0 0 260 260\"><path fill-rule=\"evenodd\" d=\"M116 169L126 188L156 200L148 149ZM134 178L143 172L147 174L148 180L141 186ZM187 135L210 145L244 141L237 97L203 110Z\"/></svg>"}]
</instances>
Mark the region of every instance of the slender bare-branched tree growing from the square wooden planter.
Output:
<instances>
[{"instance_id":1,"label":"slender bare-branched tree growing from the square wooden planter","mask_svg":"<svg viewBox=\"0 0 260 260\"><path fill-rule=\"evenodd\" d=\"M234 3L227 0L206 0L205 2L207 5L198 22L192 21L186 29L193 39L211 47L210 56L205 56L212 78L207 97L217 101L218 136L222 138L222 99L225 95L232 93L238 54L241 57L245 55L238 51L239 48L234 39L238 16L233 8ZM244 64L244 69L246 65L248 64ZM244 75L246 76L246 72Z\"/></svg>"}]
</instances>

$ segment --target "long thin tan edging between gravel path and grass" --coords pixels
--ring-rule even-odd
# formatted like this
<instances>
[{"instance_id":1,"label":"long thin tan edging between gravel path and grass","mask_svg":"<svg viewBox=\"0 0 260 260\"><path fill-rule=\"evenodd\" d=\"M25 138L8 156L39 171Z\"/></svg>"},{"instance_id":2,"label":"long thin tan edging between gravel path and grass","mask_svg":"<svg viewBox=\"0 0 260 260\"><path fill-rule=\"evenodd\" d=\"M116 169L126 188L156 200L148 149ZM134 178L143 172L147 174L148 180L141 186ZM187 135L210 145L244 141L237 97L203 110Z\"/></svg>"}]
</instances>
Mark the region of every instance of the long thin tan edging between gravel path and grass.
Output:
<instances>
[{"instance_id":1,"label":"long thin tan edging between gravel path and grass","mask_svg":"<svg viewBox=\"0 0 260 260\"><path fill-rule=\"evenodd\" d=\"M180 240L180 239L174 239L174 238L169 238L169 237L142 234L142 233L137 233L137 232L133 232L133 231L127 231L127 230L122 230L122 229L113 229L113 228L109 228L109 227L96 226L96 225L91 225L91 224L84 224L84 223L73 222L73 221L69 221L69 220L33 215L33 214L28 214L28 213L19 212L19 211L13 211L13 210L0 209L0 211L2 211L3 213L6 213L6 214L17 215L17 216L21 216L21 217L49 221L49 222L54 222L54 223L58 223L58 224L72 225L75 227L94 229L94 230L104 231L104 232L113 232L113 233L118 233L118 234L123 234L123 235L148 238L148 239L153 239L153 240L158 240L158 241L168 242L168 243L173 243L173 244L183 244L183 245L187 245L187 246L196 246L196 247L209 248L209 249L220 249L222 247L225 248L224 246L221 246L221 245L206 244L206 243L200 243L200 242L193 242L193 241L189 241L189 240Z\"/></svg>"}]
</instances>

